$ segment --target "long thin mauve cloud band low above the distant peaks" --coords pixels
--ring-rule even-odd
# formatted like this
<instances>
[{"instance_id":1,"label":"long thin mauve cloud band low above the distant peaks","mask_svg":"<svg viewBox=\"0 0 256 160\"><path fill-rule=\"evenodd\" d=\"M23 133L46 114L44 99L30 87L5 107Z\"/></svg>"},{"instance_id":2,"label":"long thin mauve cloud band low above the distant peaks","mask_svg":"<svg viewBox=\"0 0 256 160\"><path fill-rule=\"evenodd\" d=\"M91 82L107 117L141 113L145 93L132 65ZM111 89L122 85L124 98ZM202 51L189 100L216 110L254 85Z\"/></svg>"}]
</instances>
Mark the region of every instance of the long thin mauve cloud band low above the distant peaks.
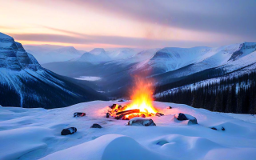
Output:
<instances>
[{"instance_id":1,"label":"long thin mauve cloud band low above the distant peaks","mask_svg":"<svg viewBox=\"0 0 256 160\"><path fill-rule=\"evenodd\" d=\"M65 30L63 30L65 31ZM16 41L33 41L33 42L59 42L70 43L74 45L92 45L103 44L117 45L117 46L130 46L141 48L161 48L166 46L209 46L212 42L196 42L196 41L177 41L177 40L154 40L148 38L127 38L120 36L98 36L98 35L85 35L72 32L74 35L63 34L10 34ZM225 39L224 39L225 41ZM216 43L216 46L220 46L222 41ZM189 44L189 45L188 45Z\"/></svg>"}]
</instances>

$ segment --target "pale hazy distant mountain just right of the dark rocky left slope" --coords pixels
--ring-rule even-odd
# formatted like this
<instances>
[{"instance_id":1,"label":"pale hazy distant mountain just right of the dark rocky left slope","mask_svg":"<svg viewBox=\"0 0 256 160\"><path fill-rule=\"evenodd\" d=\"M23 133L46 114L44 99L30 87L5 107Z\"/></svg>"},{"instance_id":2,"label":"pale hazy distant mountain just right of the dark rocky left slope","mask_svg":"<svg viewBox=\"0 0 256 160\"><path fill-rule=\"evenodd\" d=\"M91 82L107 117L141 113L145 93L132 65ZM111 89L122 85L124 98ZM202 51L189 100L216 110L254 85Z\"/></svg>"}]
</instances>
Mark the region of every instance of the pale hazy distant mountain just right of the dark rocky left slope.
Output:
<instances>
[{"instance_id":1,"label":"pale hazy distant mountain just right of the dark rocky left slope","mask_svg":"<svg viewBox=\"0 0 256 160\"><path fill-rule=\"evenodd\" d=\"M25 45L27 52L34 55L40 64L47 62L62 62L73 58L79 58L84 51L76 50L74 46Z\"/></svg>"}]
</instances>

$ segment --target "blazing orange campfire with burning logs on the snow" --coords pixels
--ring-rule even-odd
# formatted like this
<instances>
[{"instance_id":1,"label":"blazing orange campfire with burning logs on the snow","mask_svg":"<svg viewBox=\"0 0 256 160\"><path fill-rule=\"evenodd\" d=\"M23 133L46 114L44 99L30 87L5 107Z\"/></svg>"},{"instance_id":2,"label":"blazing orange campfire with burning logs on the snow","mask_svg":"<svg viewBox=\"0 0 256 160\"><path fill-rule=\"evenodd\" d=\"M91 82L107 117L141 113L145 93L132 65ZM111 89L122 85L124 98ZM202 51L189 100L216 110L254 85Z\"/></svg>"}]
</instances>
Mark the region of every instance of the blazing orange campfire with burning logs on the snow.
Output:
<instances>
[{"instance_id":1,"label":"blazing orange campfire with burning logs on the snow","mask_svg":"<svg viewBox=\"0 0 256 160\"><path fill-rule=\"evenodd\" d=\"M126 105L113 104L110 106L106 117L116 119L130 120L134 117L150 117L154 115L163 115L153 106L153 85L149 80L139 77L135 78L134 87L132 88L131 102Z\"/></svg>"}]
</instances>

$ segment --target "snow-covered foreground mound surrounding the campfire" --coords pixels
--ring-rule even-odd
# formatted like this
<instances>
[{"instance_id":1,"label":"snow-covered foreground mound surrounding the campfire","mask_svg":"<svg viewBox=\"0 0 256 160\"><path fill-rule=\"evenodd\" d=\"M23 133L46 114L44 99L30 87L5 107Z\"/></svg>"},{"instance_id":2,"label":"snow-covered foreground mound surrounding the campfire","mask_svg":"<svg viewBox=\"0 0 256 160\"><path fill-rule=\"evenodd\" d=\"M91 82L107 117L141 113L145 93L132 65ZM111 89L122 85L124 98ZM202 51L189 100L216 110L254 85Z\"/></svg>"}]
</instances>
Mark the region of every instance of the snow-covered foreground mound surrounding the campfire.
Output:
<instances>
[{"instance_id":1,"label":"snow-covered foreground mound surrounding the campfire","mask_svg":"<svg viewBox=\"0 0 256 160\"><path fill-rule=\"evenodd\" d=\"M0 159L256 159L252 115L154 102L165 114L152 118L157 126L126 126L128 121L106 118L113 103L86 102L52 110L0 106ZM74 112L86 116L73 118ZM176 120L174 114L180 112L197 118L198 125ZM102 129L90 128L94 123ZM62 136L62 129L71 126L78 132Z\"/></svg>"}]
</instances>

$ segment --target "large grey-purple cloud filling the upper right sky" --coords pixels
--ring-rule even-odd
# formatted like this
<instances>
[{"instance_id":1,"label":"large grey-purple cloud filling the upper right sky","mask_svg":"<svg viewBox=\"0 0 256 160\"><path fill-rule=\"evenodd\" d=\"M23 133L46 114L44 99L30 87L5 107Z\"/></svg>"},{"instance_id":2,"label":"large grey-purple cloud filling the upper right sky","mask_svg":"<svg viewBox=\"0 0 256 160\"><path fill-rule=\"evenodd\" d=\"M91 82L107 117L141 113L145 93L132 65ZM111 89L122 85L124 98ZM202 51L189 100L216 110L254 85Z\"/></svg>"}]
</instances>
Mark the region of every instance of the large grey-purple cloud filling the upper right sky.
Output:
<instances>
[{"instance_id":1,"label":"large grey-purple cloud filling the upper right sky","mask_svg":"<svg viewBox=\"0 0 256 160\"><path fill-rule=\"evenodd\" d=\"M188 30L232 34L256 41L255 0L74 0L122 18Z\"/></svg>"}]
</instances>

